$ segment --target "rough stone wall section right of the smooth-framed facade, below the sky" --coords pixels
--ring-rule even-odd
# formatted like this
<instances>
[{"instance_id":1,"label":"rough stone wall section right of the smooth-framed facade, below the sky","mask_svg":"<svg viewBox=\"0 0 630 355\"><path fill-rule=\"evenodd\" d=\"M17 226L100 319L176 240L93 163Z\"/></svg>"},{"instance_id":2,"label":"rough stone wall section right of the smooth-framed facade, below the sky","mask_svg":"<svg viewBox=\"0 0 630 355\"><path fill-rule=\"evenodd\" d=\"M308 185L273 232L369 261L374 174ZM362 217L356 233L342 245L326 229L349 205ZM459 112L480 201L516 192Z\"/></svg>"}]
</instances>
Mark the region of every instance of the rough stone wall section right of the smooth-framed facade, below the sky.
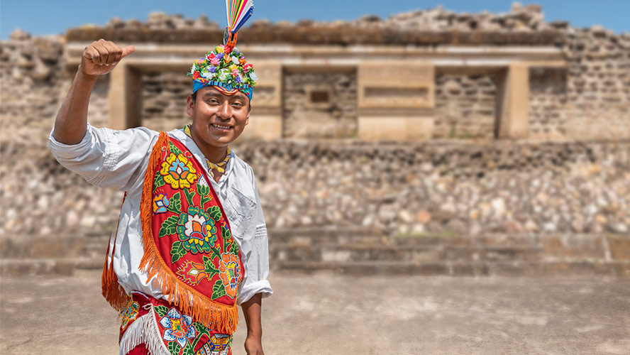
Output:
<instances>
[{"instance_id":1,"label":"rough stone wall section right of the smooth-framed facade, below the sky","mask_svg":"<svg viewBox=\"0 0 630 355\"><path fill-rule=\"evenodd\" d=\"M630 138L630 35L568 28L567 139ZM605 122L605 123L604 123Z\"/></svg>"}]
</instances>

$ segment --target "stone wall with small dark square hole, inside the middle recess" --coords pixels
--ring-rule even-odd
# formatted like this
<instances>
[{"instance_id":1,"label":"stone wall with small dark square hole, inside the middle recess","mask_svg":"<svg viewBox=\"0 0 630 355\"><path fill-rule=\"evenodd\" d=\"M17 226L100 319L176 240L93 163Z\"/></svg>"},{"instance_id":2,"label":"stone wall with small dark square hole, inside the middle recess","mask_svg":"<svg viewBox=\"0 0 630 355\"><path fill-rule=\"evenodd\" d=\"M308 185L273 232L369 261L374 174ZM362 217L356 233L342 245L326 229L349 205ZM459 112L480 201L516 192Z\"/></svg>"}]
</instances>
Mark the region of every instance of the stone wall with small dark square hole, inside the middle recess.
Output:
<instances>
[{"instance_id":1,"label":"stone wall with small dark square hole, inside the middle recess","mask_svg":"<svg viewBox=\"0 0 630 355\"><path fill-rule=\"evenodd\" d=\"M357 132L357 76L287 72L283 86L287 138L340 138Z\"/></svg>"}]
</instances>

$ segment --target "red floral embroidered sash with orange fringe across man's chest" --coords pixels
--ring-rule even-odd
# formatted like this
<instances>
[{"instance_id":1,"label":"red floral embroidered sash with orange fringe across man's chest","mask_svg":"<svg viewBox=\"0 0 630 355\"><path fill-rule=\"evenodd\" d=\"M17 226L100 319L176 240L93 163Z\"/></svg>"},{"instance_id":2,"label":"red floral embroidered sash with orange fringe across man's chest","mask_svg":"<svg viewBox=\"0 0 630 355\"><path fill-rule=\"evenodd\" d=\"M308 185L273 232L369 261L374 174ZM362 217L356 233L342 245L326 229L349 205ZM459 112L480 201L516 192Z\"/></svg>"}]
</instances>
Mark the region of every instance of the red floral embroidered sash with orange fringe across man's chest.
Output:
<instances>
[{"instance_id":1,"label":"red floral embroidered sash with orange fringe across man's chest","mask_svg":"<svg viewBox=\"0 0 630 355\"><path fill-rule=\"evenodd\" d=\"M236 330L241 251L206 170L179 141L161 132L140 201L144 255L140 270L178 310L223 334ZM112 253L113 255L113 253ZM119 312L128 296L106 262L103 293ZM112 275L113 274L113 275ZM123 295L121 295L121 292Z\"/></svg>"}]
</instances>

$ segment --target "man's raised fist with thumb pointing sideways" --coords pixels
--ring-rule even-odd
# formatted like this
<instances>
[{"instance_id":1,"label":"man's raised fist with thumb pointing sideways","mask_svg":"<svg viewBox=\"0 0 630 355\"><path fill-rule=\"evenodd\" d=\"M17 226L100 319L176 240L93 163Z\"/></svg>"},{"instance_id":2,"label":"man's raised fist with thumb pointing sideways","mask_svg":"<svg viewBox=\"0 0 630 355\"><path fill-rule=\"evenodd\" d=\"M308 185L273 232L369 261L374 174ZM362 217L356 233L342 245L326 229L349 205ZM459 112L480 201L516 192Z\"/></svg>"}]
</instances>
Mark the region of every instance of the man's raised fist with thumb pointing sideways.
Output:
<instances>
[{"instance_id":1,"label":"man's raised fist with thumb pointing sideways","mask_svg":"<svg viewBox=\"0 0 630 355\"><path fill-rule=\"evenodd\" d=\"M114 42L101 38L92 42L83 51L80 70L89 76L107 74L121 59L135 51L136 47L133 45L121 49Z\"/></svg>"}]
</instances>

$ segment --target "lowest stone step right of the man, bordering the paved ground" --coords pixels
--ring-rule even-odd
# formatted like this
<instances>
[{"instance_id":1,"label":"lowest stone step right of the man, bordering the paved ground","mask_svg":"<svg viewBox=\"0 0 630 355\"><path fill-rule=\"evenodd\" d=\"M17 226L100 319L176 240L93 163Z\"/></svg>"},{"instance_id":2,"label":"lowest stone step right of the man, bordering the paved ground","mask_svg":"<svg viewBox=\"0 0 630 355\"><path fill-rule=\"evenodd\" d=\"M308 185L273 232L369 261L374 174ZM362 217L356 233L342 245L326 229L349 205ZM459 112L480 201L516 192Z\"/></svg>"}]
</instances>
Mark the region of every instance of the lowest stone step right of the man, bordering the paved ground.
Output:
<instances>
[{"instance_id":1,"label":"lowest stone step right of the man, bordering the paved ground","mask_svg":"<svg viewBox=\"0 0 630 355\"><path fill-rule=\"evenodd\" d=\"M414 263L409 261L276 261L272 270L296 273L331 271L358 276L445 275L445 276L550 276L609 275L630 278L630 261L497 261Z\"/></svg>"}]
</instances>

